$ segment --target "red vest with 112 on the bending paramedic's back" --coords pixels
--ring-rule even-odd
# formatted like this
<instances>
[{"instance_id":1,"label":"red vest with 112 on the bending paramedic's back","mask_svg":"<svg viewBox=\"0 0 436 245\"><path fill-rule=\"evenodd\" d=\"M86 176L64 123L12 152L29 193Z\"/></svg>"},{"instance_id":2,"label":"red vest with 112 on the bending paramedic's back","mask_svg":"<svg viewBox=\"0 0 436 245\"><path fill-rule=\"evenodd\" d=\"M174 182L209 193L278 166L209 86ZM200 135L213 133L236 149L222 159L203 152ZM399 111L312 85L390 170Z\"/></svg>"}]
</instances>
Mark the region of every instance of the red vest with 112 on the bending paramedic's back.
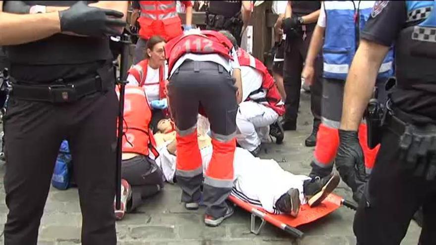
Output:
<instances>
[{"instance_id":1,"label":"red vest with 112 on the bending paramedic's back","mask_svg":"<svg viewBox=\"0 0 436 245\"><path fill-rule=\"evenodd\" d=\"M229 60L231 42L216 31L201 31L198 34L180 35L165 45L165 58L168 61L168 75L175 62L185 53L216 53Z\"/></svg>"}]
</instances>

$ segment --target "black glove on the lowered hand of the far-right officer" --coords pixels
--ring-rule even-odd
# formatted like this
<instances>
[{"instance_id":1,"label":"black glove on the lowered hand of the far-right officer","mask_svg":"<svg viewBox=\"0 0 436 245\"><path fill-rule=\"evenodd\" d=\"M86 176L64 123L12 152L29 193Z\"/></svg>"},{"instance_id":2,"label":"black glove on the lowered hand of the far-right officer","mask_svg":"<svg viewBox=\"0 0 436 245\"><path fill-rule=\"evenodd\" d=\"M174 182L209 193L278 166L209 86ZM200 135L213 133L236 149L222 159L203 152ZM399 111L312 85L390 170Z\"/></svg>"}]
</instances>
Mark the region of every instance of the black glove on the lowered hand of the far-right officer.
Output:
<instances>
[{"instance_id":1,"label":"black glove on the lowered hand of the far-right officer","mask_svg":"<svg viewBox=\"0 0 436 245\"><path fill-rule=\"evenodd\" d=\"M336 168L342 180L353 189L367 181L362 147L357 131L339 129L339 148L336 154Z\"/></svg>"}]
</instances>

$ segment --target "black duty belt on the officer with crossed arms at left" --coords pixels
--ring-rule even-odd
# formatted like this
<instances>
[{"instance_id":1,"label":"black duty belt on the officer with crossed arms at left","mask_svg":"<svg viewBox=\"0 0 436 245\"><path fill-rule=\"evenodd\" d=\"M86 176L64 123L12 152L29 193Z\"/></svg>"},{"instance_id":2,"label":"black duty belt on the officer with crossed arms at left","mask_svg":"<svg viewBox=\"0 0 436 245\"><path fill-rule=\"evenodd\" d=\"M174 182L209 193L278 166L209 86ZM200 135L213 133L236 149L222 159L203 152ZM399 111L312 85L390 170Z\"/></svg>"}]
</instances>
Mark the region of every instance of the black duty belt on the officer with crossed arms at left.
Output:
<instances>
[{"instance_id":1,"label":"black duty belt on the officer with crossed arms at left","mask_svg":"<svg viewBox=\"0 0 436 245\"><path fill-rule=\"evenodd\" d=\"M114 79L102 79L100 75L76 80L74 83L58 80L49 86L12 83L10 96L24 100L68 103L97 92L106 92L111 84L114 84Z\"/></svg>"}]
</instances>

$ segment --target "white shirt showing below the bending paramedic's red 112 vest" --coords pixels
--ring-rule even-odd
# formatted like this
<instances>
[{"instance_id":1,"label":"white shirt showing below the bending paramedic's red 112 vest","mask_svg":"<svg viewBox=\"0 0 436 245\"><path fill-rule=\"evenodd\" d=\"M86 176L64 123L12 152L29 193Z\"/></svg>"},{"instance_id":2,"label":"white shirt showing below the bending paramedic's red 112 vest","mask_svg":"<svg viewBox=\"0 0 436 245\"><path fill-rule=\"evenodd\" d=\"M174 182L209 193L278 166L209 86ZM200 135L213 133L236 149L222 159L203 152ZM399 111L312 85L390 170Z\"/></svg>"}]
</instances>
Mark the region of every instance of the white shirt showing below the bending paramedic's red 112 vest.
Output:
<instances>
[{"instance_id":1,"label":"white shirt showing below the bending paramedic's red 112 vest","mask_svg":"<svg viewBox=\"0 0 436 245\"><path fill-rule=\"evenodd\" d=\"M208 53L208 54L196 54L196 53L185 53L183 54L174 64L171 69L171 73L169 77L172 76L174 71L187 59L195 60L195 61L212 61L218 63L224 67L224 69L230 73L233 73L233 69L240 69L238 54L236 50L232 48L230 51L233 60L228 60L217 53Z\"/></svg>"}]
</instances>

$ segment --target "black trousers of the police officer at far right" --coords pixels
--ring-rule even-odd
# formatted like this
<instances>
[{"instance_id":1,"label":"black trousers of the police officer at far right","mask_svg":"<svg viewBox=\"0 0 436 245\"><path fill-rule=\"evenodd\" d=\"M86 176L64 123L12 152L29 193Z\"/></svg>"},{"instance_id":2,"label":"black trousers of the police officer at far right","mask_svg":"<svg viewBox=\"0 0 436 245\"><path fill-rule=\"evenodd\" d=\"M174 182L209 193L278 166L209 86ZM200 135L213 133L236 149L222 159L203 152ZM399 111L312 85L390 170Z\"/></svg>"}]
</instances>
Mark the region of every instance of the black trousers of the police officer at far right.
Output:
<instances>
[{"instance_id":1,"label":"black trousers of the police officer at far right","mask_svg":"<svg viewBox=\"0 0 436 245\"><path fill-rule=\"evenodd\" d=\"M422 206L419 244L435 245L436 181L414 177L413 171L404 169L406 163L398 159L400 136L388 127L384 128L381 148L354 218L357 243L399 245L413 214Z\"/></svg>"}]
</instances>

